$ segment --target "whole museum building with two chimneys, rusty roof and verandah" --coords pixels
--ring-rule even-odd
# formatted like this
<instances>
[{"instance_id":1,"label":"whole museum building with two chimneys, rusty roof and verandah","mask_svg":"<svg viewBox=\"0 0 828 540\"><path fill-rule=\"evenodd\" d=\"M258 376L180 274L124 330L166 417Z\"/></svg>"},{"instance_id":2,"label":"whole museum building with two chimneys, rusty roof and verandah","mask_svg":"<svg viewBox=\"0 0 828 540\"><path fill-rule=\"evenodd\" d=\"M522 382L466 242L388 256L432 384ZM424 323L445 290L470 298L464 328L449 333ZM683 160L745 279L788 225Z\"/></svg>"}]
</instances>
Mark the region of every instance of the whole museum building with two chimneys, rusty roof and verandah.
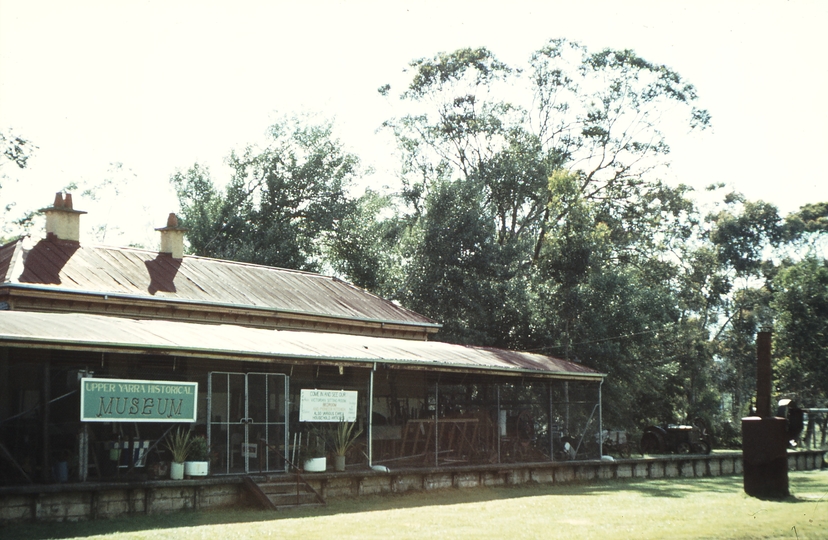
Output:
<instances>
[{"instance_id":1,"label":"whole museum building with two chimneys, rusty roof and verandah","mask_svg":"<svg viewBox=\"0 0 828 540\"><path fill-rule=\"evenodd\" d=\"M151 477L177 426L213 475L287 471L338 420L363 430L353 468L600 455L584 366L435 341L333 277L186 256L174 215L153 252L81 244L70 195L44 213L44 239L0 247L0 484Z\"/></svg>"}]
</instances>

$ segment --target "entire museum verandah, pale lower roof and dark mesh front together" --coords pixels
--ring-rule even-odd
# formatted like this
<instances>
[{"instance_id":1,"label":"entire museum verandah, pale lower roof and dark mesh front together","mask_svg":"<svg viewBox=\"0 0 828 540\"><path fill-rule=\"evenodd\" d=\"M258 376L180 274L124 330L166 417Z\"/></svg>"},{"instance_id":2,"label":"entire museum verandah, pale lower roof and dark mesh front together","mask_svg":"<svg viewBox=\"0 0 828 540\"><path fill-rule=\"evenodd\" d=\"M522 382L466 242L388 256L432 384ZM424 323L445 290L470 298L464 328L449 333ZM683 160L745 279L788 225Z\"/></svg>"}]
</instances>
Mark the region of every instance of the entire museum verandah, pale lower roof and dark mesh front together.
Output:
<instances>
[{"instance_id":1,"label":"entire museum verandah, pale lower roof and dark mesh front together","mask_svg":"<svg viewBox=\"0 0 828 540\"><path fill-rule=\"evenodd\" d=\"M303 390L354 396L352 423L361 433L346 453L351 469L600 455L603 375L553 357L87 314L7 311L0 319L7 375L0 461L9 482L21 472L47 483L149 474L154 463L169 461L164 440L179 427L207 438L213 475L290 472L302 466L302 441L307 449L311 435L323 440L323 454L333 454L326 436L337 422L303 421ZM147 392L197 384L195 417L141 421L142 405L119 418L90 419L81 414L90 379L108 379L118 391L139 381ZM96 403L117 413L124 399ZM133 399L149 403L143 394ZM68 476L53 472L63 462Z\"/></svg>"}]
</instances>

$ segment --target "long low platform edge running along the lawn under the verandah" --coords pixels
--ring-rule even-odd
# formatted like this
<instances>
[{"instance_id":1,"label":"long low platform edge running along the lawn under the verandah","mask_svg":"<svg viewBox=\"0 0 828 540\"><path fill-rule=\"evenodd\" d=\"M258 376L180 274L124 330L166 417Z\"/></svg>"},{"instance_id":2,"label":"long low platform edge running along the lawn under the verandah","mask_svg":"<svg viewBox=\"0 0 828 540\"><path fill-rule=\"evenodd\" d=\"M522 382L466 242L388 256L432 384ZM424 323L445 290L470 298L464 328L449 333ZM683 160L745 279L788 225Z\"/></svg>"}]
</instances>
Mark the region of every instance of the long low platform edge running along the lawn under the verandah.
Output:
<instances>
[{"instance_id":1,"label":"long low platform edge running along the lawn under the verandah","mask_svg":"<svg viewBox=\"0 0 828 540\"><path fill-rule=\"evenodd\" d=\"M788 470L825 467L825 450L788 453ZM742 474L742 454L671 455L616 461L563 461L400 468L378 472L353 468L341 473L307 473L306 481L325 499L445 488L624 479L703 478ZM263 475L251 475L266 480ZM284 475L272 475L283 477ZM85 482L0 487L0 523L79 521L129 514L247 506L253 504L241 476L191 480Z\"/></svg>"}]
</instances>

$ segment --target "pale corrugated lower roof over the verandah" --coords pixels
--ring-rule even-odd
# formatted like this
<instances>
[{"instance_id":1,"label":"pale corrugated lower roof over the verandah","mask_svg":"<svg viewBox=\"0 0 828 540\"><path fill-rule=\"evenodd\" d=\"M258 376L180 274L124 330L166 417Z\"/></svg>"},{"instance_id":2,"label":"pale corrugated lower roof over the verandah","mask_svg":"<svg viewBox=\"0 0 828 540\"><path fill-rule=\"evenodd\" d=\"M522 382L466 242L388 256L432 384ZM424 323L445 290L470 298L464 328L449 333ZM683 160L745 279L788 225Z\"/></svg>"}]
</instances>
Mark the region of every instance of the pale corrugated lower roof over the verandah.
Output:
<instances>
[{"instance_id":1,"label":"pale corrugated lower roof over the verandah","mask_svg":"<svg viewBox=\"0 0 828 540\"><path fill-rule=\"evenodd\" d=\"M559 358L487 347L81 313L0 311L2 344L155 351L230 360L376 362L567 378L602 377L592 369Z\"/></svg>"}]
</instances>

